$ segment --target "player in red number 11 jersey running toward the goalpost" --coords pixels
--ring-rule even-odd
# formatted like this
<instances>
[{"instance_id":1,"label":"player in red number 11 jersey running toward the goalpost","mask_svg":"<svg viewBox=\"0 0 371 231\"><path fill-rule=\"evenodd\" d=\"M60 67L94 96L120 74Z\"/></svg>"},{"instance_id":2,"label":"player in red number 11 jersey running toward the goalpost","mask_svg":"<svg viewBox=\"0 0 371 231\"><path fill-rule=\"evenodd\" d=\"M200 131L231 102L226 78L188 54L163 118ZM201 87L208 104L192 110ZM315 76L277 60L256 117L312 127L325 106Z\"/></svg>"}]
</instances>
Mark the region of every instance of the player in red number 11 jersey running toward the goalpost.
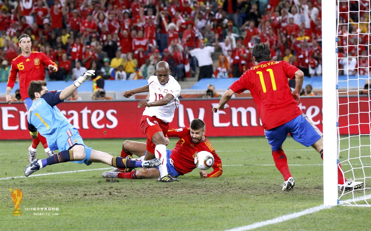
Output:
<instances>
[{"instance_id":1,"label":"player in red number 11 jersey running toward the goalpost","mask_svg":"<svg viewBox=\"0 0 371 231\"><path fill-rule=\"evenodd\" d=\"M251 92L265 129L265 136L272 147L272 156L277 169L285 182L282 190L295 187L282 144L288 133L302 145L312 146L323 159L323 139L320 130L313 125L308 117L298 107L299 93L303 85L304 74L298 68L286 61L270 61L269 46L264 43L255 45L252 51L255 67L229 86L220 99L219 105L213 111L226 109L226 103L233 94L246 90ZM290 92L288 78L295 79L296 88ZM341 166L338 165L339 189L352 190L363 186L361 181L351 181L344 178Z\"/></svg>"}]
</instances>

